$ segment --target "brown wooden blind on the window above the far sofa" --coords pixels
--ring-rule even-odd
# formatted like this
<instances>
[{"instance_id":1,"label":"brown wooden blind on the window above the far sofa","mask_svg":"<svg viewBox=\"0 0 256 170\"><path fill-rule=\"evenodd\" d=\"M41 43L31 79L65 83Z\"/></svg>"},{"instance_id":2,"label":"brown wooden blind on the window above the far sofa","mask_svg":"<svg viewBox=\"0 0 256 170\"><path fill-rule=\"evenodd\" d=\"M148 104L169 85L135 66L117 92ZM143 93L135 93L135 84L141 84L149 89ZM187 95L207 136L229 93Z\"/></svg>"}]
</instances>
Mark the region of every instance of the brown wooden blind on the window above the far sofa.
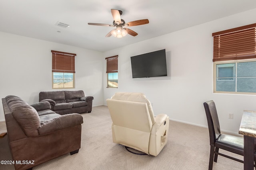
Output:
<instances>
[{"instance_id":1,"label":"brown wooden blind on the window above the far sofa","mask_svg":"<svg viewBox=\"0 0 256 170\"><path fill-rule=\"evenodd\" d=\"M52 50L52 72L75 73L76 54Z\"/></svg>"}]
</instances>

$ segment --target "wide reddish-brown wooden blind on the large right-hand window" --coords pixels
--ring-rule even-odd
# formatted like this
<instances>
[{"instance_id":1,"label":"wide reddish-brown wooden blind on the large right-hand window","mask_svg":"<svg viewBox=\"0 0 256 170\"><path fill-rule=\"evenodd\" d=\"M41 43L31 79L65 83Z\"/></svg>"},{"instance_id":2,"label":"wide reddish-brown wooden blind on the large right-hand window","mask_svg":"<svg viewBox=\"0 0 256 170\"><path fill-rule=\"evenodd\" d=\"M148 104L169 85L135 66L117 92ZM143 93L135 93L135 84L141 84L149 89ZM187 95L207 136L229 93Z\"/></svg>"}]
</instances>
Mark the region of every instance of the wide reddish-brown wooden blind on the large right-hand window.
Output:
<instances>
[{"instance_id":1,"label":"wide reddish-brown wooden blind on the large right-hand window","mask_svg":"<svg viewBox=\"0 0 256 170\"><path fill-rule=\"evenodd\" d=\"M213 60L256 58L256 23L212 33Z\"/></svg>"}]
</instances>

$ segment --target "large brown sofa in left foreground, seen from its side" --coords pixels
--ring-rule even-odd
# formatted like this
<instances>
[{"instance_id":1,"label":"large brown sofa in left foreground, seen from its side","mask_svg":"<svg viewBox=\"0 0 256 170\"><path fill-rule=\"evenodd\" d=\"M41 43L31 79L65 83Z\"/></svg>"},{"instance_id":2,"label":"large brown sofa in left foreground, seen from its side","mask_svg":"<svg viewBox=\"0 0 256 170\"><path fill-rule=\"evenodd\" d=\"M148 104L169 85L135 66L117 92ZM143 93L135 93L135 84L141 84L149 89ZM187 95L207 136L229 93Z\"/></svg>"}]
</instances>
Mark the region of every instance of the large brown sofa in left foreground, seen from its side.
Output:
<instances>
[{"instance_id":1,"label":"large brown sofa in left foreground, seen from its side","mask_svg":"<svg viewBox=\"0 0 256 170\"><path fill-rule=\"evenodd\" d=\"M17 96L2 98L2 104L12 158L15 162L28 161L14 164L16 170L32 168L68 152L75 154L80 149L80 114L59 115L50 109L49 102L30 106Z\"/></svg>"}]
</instances>

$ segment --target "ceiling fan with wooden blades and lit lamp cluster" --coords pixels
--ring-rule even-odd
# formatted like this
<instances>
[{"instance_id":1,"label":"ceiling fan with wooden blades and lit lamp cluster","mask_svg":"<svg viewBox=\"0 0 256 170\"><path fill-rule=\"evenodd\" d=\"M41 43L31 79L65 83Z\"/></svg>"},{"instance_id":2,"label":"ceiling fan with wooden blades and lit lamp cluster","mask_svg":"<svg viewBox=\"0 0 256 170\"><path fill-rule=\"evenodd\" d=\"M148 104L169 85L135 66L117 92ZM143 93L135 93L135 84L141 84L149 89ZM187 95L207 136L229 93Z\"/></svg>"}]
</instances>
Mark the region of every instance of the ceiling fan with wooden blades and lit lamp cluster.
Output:
<instances>
[{"instance_id":1,"label":"ceiling fan with wooden blades and lit lamp cluster","mask_svg":"<svg viewBox=\"0 0 256 170\"><path fill-rule=\"evenodd\" d=\"M138 35L138 33L133 31L132 29L125 28L124 26L130 27L130 26L143 25L143 24L149 23L148 19L130 21L128 23L125 23L125 21L121 19L121 15L123 13L121 10L111 9L111 13L114 18L113 25L105 24L105 23L88 23L88 25L101 25L101 26L116 27L115 29L112 29L106 35L106 37L110 37L111 35L113 35L114 37L121 38L121 37L124 37L125 35L127 35L127 33L132 36Z\"/></svg>"}]
</instances>

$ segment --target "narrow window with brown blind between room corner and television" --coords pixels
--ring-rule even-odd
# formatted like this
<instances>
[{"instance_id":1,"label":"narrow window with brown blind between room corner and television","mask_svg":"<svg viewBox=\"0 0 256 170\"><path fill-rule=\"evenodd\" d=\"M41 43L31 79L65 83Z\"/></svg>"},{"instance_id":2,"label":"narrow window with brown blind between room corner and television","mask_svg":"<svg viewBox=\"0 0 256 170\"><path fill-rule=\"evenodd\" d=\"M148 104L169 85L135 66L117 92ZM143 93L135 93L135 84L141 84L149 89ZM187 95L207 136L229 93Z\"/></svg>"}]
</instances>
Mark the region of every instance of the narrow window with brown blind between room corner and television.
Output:
<instances>
[{"instance_id":1,"label":"narrow window with brown blind between room corner and television","mask_svg":"<svg viewBox=\"0 0 256 170\"><path fill-rule=\"evenodd\" d=\"M118 55L107 57L107 87L118 88Z\"/></svg>"}]
</instances>

